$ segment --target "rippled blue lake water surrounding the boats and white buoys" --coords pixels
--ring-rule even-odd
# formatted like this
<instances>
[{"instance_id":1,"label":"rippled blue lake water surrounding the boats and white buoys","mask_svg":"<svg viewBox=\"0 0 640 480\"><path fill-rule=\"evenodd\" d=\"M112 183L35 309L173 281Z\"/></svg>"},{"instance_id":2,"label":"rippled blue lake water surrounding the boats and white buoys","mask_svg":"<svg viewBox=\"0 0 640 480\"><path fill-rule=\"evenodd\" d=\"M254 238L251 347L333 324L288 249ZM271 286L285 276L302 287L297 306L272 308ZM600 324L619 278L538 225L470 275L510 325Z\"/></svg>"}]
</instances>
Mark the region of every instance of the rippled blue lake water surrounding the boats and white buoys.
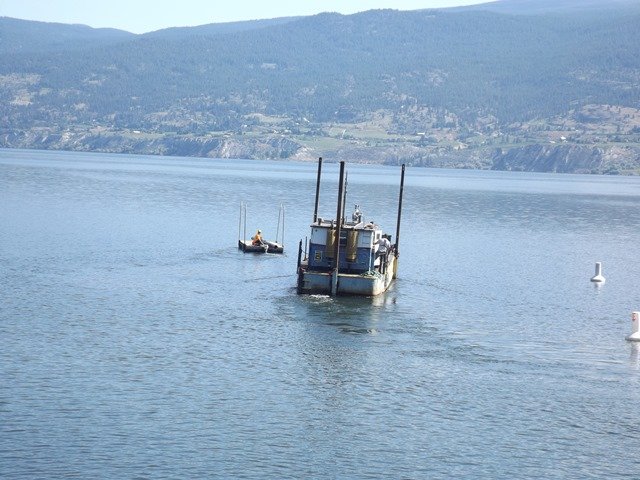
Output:
<instances>
[{"instance_id":1,"label":"rippled blue lake water surrounding the boats and white buoys","mask_svg":"<svg viewBox=\"0 0 640 480\"><path fill-rule=\"evenodd\" d=\"M400 169L347 170L395 233ZM408 168L374 299L296 295L315 182L0 150L0 477L640 476L640 178Z\"/></svg>"}]
</instances>

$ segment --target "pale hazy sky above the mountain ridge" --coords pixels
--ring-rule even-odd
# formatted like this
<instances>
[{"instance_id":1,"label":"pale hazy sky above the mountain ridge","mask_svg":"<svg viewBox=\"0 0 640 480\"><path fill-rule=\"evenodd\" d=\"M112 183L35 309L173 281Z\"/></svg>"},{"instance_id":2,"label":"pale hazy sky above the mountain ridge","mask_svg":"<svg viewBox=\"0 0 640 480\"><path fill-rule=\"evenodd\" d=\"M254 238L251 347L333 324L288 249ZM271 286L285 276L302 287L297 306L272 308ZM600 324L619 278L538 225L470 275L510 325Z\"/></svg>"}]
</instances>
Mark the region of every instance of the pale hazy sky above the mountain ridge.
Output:
<instances>
[{"instance_id":1,"label":"pale hazy sky above the mountain ridge","mask_svg":"<svg viewBox=\"0 0 640 480\"><path fill-rule=\"evenodd\" d=\"M144 33L167 27L321 12L350 14L374 8L418 10L488 1L491 0L0 0L0 16Z\"/></svg>"}]
</instances>

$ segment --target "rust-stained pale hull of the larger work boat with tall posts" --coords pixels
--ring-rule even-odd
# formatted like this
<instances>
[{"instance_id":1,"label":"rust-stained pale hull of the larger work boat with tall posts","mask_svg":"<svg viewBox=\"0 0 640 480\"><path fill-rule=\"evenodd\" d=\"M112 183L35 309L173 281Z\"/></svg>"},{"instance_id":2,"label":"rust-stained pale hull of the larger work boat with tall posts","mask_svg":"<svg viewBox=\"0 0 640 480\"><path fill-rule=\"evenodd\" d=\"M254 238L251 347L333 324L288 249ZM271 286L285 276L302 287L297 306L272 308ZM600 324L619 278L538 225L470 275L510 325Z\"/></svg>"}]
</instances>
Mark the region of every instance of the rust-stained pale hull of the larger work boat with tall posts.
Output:
<instances>
[{"instance_id":1,"label":"rust-stained pale hull of the larger work boat with tall posts","mask_svg":"<svg viewBox=\"0 0 640 480\"><path fill-rule=\"evenodd\" d=\"M385 292L395 278L395 255L388 256L384 273L369 271L361 274L339 273L337 295L375 296ZM334 273L309 271L303 264L298 272L298 293L331 295Z\"/></svg>"}]
</instances>

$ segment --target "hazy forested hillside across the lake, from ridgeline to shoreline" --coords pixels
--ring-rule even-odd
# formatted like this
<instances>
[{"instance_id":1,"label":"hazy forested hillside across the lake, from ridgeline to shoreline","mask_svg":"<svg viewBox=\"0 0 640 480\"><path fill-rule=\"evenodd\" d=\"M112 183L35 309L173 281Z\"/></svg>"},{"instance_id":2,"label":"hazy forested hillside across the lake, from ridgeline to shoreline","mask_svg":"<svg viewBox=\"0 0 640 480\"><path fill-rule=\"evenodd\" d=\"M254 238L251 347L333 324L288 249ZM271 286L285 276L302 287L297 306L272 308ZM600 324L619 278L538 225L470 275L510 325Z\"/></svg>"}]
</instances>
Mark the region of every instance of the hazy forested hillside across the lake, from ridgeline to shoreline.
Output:
<instances>
[{"instance_id":1,"label":"hazy forested hillside across the lake, from ridgeline to shoreline","mask_svg":"<svg viewBox=\"0 0 640 480\"><path fill-rule=\"evenodd\" d=\"M146 35L0 18L0 146L639 172L640 4L580 4Z\"/></svg>"}]
</instances>

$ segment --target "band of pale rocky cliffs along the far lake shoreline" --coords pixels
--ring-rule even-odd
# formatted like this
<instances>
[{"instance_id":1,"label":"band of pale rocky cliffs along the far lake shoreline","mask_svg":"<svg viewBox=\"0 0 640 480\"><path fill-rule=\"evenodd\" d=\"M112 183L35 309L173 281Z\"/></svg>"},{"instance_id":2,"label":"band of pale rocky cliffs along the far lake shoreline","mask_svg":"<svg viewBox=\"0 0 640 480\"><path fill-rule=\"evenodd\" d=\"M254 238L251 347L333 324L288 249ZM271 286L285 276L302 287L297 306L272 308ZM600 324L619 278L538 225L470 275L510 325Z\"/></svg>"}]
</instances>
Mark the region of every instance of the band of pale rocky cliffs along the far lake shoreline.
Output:
<instances>
[{"instance_id":1,"label":"band of pale rocky cliffs along the far lake shoreline","mask_svg":"<svg viewBox=\"0 0 640 480\"><path fill-rule=\"evenodd\" d=\"M25 132L0 135L0 147L133 153L202 158L245 158L408 165L525 172L640 174L640 146L532 144L512 148L451 149L392 143L375 147L342 143L310 147L286 135L146 135L143 133Z\"/></svg>"}]
</instances>

